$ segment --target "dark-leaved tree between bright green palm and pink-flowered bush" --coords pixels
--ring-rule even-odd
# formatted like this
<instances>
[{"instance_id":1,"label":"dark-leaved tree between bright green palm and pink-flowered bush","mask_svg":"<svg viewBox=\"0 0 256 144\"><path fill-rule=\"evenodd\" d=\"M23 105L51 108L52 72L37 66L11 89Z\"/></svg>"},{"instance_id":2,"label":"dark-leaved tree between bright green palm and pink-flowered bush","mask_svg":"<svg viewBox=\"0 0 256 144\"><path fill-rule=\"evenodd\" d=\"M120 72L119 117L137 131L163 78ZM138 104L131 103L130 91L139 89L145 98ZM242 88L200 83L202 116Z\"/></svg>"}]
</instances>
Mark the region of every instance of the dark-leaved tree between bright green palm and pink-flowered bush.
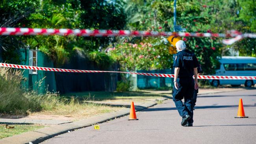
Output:
<instances>
[{"instance_id":1,"label":"dark-leaved tree between bright green palm and pink-flowered bush","mask_svg":"<svg viewBox=\"0 0 256 144\"><path fill-rule=\"evenodd\" d=\"M122 0L80 0L81 19L85 29L121 30L126 25ZM115 42L109 37L84 37L87 50L100 50Z\"/></svg>"}]
</instances>

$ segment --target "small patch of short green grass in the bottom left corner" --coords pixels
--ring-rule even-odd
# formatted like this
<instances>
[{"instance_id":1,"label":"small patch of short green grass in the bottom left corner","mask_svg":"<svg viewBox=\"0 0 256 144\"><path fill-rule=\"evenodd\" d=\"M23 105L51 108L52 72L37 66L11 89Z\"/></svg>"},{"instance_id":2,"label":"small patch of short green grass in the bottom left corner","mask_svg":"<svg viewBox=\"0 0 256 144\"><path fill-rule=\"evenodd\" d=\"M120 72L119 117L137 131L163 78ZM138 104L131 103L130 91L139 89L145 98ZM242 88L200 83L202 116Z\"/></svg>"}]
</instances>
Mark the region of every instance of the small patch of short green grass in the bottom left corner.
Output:
<instances>
[{"instance_id":1,"label":"small patch of short green grass in the bottom left corner","mask_svg":"<svg viewBox=\"0 0 256 144\"><path fill-rule=\"evenodd\" d=\"M45 126L39 125L9 125L14 126L13 129L7 129L5 124L0 124L0 139L11 137L13 135L19 135L28 131L33 131L35 129L41 129Z\"/></svg>"}]
</instances>

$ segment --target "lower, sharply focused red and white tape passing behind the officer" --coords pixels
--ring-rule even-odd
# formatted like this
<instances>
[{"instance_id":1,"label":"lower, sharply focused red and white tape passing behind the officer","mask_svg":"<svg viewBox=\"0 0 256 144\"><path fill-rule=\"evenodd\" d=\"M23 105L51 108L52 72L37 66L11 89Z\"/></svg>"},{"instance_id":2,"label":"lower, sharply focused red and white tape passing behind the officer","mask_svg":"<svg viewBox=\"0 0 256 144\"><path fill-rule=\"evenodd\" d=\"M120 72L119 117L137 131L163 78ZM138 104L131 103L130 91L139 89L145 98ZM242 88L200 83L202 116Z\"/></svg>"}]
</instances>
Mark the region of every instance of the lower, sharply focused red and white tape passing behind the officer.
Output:
<instances>
[{"instance_id":1,"label":"lower, sharply focused red and white tape passing behind the officer","mask_svg":"<svg viewBox=\"0 0 256 144\"><path fill-rule=\"evenodd\" d=\"M72 69L63 69L63 68L47 68L47 67L39 67L39 66L14 65L14 64L8 64L8 63L0 63L0 66L8 67L8 68L44 70L44 71L53 71L53 72L85 72L85 73L116 72L116 71L102 71L102 70L72 70ZM116 73L174 78L174 74L152 74L152 73L140 73L140 72L116 72ZM198 76L197 78L198 79L256 79L256 76Z\"/></svg>"}]
</instances>

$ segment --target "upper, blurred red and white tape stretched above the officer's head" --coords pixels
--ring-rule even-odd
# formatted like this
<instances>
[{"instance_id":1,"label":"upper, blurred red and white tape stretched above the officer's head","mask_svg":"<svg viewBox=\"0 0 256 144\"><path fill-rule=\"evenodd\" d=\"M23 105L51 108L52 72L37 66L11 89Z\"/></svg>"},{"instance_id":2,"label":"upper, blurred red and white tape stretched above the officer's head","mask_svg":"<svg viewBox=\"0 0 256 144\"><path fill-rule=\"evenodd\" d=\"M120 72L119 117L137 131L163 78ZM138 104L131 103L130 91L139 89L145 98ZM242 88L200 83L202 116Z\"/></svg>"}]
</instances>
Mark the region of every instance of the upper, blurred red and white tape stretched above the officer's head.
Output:
<instances>
[{"instance_id":1,"label":"upper, blurred red and white tape stretched above the officer's head","mask_svg":"<svg viewBox=\"0 0 256 144\"><path fill-rule=\"evenodd\" d=\"M181 37L242 37L256 38L256 33L187 33L129 30L80 30L80 29L45 29L45 28L0 28L0 35L76 35L76 36L170 36Z\"/></svg>"}]
</instances>

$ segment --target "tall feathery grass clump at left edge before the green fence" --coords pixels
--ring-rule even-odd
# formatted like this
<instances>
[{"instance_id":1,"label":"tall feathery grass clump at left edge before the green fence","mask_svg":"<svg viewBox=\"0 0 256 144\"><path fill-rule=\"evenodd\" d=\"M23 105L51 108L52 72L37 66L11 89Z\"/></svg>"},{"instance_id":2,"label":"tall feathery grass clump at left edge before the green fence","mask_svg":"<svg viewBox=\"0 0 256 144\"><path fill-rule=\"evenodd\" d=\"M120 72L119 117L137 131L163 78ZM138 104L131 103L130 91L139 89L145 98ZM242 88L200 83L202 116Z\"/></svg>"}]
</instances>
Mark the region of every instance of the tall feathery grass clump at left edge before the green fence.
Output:
<instances>
[{"instance_id":1,"label":"tall feathery grass clump at left edge before the green fence","mask_svg":"<svg viewBox=\"0 0 256 144\"><path fill-rule=\"evenodd\" d=\"M25 114L41 107L27 96L21 87L22 72L0 67L0 113Z\"/></svg>"}]
</instances>

